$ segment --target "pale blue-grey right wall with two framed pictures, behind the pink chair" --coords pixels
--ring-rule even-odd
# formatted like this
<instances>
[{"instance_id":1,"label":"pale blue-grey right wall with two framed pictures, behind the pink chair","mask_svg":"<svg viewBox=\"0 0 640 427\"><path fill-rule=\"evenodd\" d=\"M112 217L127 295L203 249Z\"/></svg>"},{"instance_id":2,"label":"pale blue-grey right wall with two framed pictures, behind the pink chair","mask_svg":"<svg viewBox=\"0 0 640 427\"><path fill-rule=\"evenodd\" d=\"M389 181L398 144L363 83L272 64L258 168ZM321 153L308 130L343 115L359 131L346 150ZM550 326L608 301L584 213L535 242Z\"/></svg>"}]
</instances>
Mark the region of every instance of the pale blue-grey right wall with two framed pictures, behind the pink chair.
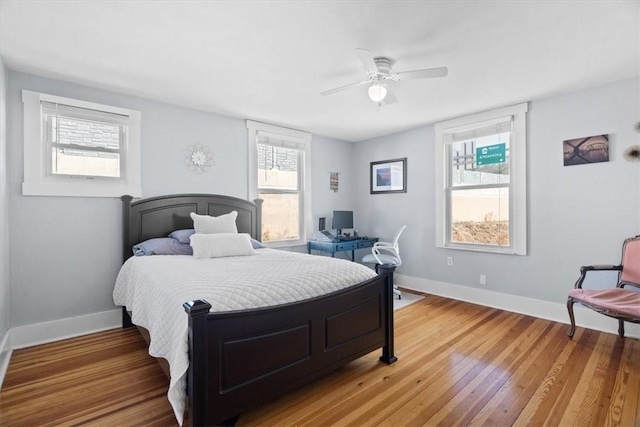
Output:
<instances>
[{"instance_id":1,"label":"pale blue-grey right wall with two framed pictures, behind the pink chair","mask_svg":"<svg viewBox=\"0 0 640 427\"><path fill-rule=\"evenodd\" d=\"M435 247L433 126L356 144L362 228L391 238L408 225L400 274L563 303L581 265L619 262L624 238L640 231L640 165L622 157L640 140L639 92L633 79L530 102L527 256ZM563 166L563 140L599 134L609 134L609 162ZM399 157L408 158L407 193L370 195L369 162ZM481 274L487 285L479 284Z\"/></svg>"}]
</instances>

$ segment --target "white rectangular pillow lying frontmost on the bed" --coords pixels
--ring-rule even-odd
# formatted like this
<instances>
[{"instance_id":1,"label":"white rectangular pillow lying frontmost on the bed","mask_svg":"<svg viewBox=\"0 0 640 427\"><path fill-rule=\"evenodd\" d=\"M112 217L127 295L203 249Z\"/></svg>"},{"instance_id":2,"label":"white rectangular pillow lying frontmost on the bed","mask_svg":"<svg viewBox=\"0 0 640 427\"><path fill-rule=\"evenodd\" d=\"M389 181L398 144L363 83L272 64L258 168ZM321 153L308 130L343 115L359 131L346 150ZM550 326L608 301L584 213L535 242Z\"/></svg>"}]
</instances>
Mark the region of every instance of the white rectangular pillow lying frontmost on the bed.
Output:
<instances>
[{"instance_id":1,"label":"white rectangular pillow lying frontmost on the bed","mask_svg":"<svg viewBox=\"0 0 640 427\"><path fill-rule=\"evenodd\" d=\"M221 258L254 255L251 238L246 233L192 234L191 247L195 258Z\"/></svg>"}]
</instances>

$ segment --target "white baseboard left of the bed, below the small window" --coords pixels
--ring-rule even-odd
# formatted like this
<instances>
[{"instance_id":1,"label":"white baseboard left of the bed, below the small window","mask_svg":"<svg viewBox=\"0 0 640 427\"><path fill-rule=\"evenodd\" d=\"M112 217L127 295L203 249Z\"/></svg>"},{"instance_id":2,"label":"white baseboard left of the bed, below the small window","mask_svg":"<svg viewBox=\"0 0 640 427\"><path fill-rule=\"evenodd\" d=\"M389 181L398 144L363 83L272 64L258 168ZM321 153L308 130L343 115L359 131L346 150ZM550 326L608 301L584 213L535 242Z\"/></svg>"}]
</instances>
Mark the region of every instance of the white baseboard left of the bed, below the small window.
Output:
<instances>
[{"instance_id":1,"label":"white baseboard left of the bed, below the small window","mask_svg":"<svg viewBox=\"0 0 640 427\"><path fill-rule=\"evenodd\" d=\"M15 350L115 329L122 326L121 313L120 309L116 309L53 320L51 322L18 326L9 330L11 348Z\"/></svg>"}]
</instances>

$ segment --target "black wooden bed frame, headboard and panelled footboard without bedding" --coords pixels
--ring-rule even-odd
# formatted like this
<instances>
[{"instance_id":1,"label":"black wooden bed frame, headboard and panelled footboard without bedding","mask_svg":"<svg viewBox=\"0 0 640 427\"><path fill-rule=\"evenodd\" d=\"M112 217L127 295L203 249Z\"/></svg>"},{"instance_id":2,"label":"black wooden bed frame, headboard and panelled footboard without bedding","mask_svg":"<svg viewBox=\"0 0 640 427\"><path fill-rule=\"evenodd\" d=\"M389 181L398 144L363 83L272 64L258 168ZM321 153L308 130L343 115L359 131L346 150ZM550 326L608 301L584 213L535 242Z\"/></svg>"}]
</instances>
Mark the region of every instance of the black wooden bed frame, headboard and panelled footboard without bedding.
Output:
<instances>
[{"instance_id":1,"label":"black wooden bed frame, headboard and panelled footboard without bedding","mask_svg":"<svg viewBox=\"0 0 640 427\"><path fill-rule=\"evenodd\" d=\"M132 246L140 242L192 228L191 212L217 217L237 211L238 232L257 240L261 236L260 200L179 194L135 202L131 196L122 196L122 203L124 261L132 256ZM335 261L340 262L330 262ZM327 264L323 268L333 267ZM397 360L391 266L383 266L378 275L356 285L278 305L215 312L204 299L171 304L181 305L186 312L189 425L233 422L243 411L376 349L382 350L382 362ZM131 319L136 319L135 311L132 314L123 307L122 313L123 327L134 326Z\"/></svg>"}]
</instances>

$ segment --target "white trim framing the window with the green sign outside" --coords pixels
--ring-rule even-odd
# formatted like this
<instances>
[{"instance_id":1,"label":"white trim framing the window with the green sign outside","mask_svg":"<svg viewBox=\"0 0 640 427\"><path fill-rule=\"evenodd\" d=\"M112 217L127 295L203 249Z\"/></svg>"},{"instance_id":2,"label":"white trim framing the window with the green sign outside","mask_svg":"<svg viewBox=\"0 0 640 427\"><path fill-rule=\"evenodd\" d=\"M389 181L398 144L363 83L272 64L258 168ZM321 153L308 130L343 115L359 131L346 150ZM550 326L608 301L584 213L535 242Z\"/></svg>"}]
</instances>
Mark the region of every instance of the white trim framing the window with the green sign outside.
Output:
<instances>
[{"instance_id":1,"label":"white trim framing the window with the green sign outside","mask_svg":"<svg viewBox=\"0 0 640 427\"><path fill-rule=\"evenodd\" d=\"M527 254L527 127L526 113L527 103L513 105L492 111L472 114L443 122L436 123L436 246L447 249L463 249L480 252L493 252L503 254L526 255ZM455 244L448 242L447 232L447 176L448 163L445 150L444 135L465 128L472 128L480 122L495 120L500 117L513 116L513 133L509 142L510 151L510 191L509 191L509 226L510 246L485 246Z\"/></svg>"}]
</instances>

